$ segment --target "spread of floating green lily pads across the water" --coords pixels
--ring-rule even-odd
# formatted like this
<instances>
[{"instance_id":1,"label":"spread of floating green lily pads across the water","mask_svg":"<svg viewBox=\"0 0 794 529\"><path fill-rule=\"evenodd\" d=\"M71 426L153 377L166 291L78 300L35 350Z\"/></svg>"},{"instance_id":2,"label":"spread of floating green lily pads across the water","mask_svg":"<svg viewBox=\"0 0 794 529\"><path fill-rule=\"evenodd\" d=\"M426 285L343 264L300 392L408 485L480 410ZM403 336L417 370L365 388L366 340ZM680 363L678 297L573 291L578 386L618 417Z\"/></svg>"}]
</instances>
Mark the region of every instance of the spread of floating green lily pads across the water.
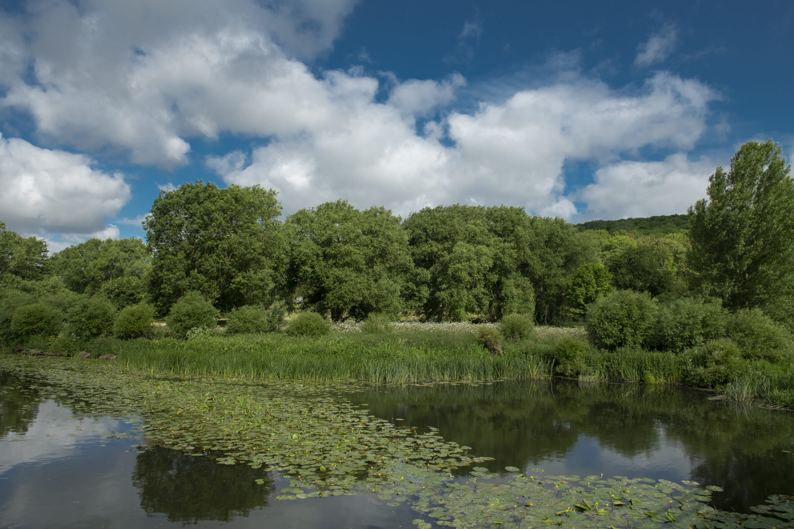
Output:
<instances>
[{"instance_id":1,"label":"spread of floating green lily pads across the water","mask_svg":"<svg viewBox=\"0 0 794 529\"><path fill-rule=\"evenodd\" d=\"M722 489L692 481L546 476L515 466L491 472L481 465L492 458L446 441L435 428L396 426L340 397L372 387L360 382L169 378L110 362L18 355L0 356L0 372L76 416L137 421L139 442L150 450L258 470L239 512L260 501L253 488L267 489L277 472L290 486L276 500L368 491L390 506L409 503L424 516L414 520L422 528L794 527L794 496L770 496L754 514L740 514L708 506ZM467 466L468 477L453 478ZM156 499L149 503L158 508Z\"/></svg>"}]
</instances>

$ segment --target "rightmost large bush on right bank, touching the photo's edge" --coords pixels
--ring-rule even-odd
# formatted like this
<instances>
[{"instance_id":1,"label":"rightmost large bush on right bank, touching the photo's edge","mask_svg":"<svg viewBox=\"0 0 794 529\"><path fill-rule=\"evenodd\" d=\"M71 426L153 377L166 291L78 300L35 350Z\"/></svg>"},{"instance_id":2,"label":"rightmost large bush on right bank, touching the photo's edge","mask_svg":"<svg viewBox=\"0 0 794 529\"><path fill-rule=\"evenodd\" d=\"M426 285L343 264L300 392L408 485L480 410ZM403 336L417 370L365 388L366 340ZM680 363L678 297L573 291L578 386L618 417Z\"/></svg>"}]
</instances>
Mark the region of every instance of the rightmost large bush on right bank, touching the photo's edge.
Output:
<instances>
[{"instance_id":1,"label":"rightmost large bush on right bank, touching the photo's edge","mask_svg":"<svg viewBox=\"0 0 794 529\"><path fill-rule=\"evenodd\" d=\"M742 309L731 314L726 335L736 342L745 358L777 362L792 349L792 336L761 309Z\"/></svg>"}]
</instances>

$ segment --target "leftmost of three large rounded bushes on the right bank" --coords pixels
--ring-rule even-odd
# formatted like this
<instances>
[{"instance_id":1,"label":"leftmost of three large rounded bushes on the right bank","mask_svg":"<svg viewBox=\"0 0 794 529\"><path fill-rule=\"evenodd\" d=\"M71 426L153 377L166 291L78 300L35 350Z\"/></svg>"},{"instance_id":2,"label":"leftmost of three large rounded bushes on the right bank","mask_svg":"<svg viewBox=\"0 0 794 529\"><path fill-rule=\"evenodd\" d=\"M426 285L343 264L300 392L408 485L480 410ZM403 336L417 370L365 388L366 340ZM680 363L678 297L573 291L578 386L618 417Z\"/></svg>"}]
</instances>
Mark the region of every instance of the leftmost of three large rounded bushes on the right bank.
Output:
<instances>
[{"instance_id":1,"label":"leftmost of three large rounded bushes on the right bank","mask_svg":"<svg viewBox=\"0 0 794 529\"><path fill-rule=\"evenodd\" d=\"M614 290L588 309L586 328L590 343L614 351L642 347L653 334L657 304L649 293Z\"/></svg>"}]
</instances>

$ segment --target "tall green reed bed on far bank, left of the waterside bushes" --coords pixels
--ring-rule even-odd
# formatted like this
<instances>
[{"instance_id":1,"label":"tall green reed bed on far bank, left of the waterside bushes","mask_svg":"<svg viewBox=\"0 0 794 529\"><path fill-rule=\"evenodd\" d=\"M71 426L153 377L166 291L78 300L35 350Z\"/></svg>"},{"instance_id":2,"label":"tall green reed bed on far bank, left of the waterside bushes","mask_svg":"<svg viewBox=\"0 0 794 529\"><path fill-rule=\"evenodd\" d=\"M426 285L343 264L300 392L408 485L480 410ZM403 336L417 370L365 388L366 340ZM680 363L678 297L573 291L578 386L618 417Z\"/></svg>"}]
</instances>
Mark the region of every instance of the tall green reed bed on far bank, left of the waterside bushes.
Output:
<instances>
[{"instance_id":1,"label":"tall green reed bed on far bank, left of the waterside bushes","mask_svg":"<svg viewBox=\"0 0 794 529\"><path fill-rule=\"evenodd\" d=\"M549 377L548 361L492 357L471 336L284 335L208 337L121 344L118 362L165 374L249 378L357 379L368 382L531 380Z\"/></svg>"}]
</instances>

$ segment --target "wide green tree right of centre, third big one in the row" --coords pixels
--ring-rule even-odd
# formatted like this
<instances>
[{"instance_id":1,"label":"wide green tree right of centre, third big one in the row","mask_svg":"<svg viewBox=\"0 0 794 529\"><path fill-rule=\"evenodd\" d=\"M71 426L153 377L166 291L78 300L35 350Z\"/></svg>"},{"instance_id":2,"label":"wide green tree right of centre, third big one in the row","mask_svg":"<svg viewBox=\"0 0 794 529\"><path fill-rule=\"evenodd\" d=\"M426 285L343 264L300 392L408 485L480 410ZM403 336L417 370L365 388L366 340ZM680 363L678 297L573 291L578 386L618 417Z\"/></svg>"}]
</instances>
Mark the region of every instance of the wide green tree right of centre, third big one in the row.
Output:
<instances>
[{"instance_id":1,"label":"wide green tree right of centre, third big one in the row","mask_svg":"<svg viewBox=\"0 0 794 529\"><path fill-rule=\"evenodd\" d=\"M411 214L403 228L415 266L407 289L412 308L439 321L534 314L531 222L522 208L504 206L456 204Z\"/></svg>"}]
</instances>

